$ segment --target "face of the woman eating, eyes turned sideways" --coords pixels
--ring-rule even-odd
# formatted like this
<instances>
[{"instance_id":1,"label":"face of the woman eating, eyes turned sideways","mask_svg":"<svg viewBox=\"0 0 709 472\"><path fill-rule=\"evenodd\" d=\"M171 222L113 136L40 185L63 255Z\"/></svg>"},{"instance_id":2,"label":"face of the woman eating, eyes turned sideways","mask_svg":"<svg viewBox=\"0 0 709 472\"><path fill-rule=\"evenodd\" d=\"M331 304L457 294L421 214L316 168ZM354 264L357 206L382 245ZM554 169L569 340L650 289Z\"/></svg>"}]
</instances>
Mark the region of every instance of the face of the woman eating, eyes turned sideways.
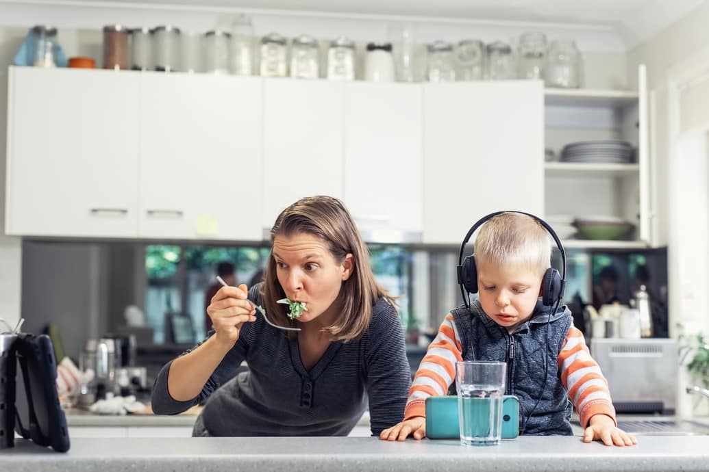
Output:
<instances>
[{"instance_id":1,"label":"face of the woman eating, eyes turned sideways","mask_svg":"<svg viewBox=\"0 0 709 472\"><path fill-rule=\"evenodd\" d=\"M352 254L347 254L345 260L339 263L330 253L327 243L312 234L275 236L272 252L278 282L286 297L306 302L308 310L298 318L302 323L328 313L340 294L342 282L352 275ZM325 326L333 320L324 318L334 316L335 313L330 312L320 321Z\"/></svg>"}]
</instances>

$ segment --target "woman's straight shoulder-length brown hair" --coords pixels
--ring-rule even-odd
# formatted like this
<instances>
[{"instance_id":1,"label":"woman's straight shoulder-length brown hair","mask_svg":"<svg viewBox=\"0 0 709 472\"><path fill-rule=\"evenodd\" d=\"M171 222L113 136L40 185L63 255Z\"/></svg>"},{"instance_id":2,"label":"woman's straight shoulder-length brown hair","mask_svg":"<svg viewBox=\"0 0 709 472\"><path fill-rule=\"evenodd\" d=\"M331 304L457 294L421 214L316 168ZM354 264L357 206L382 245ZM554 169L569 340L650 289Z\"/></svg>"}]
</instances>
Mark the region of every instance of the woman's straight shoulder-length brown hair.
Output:
<instances>
[{"instance_id":1,"label":"woman's straight shoulder-length brown hair","mask_svg":"<svg viewBox=\"0 0 709 472\"><path fill-rule=\"evenodd\" d=\"M325 328L336 340L357 339L369 328L372 309L376 300L384 297L393 306L393 297L374 280L369 251L359 236L350 212L337 198L318 195L305 197L284 209L271 229L271 241L276 236L311 234L320 238L330 250L337 263L342 263L347 254L352 254L352 274L342 282L335 304L340 306L340 316L333 325ZM281 326L294 324L289 321L287 305L277 304L286 294L278 282L273 250L266 265L262 287L266 311ZM289 332L291 337L294 335Z\"/></svg>"}]
</instances>

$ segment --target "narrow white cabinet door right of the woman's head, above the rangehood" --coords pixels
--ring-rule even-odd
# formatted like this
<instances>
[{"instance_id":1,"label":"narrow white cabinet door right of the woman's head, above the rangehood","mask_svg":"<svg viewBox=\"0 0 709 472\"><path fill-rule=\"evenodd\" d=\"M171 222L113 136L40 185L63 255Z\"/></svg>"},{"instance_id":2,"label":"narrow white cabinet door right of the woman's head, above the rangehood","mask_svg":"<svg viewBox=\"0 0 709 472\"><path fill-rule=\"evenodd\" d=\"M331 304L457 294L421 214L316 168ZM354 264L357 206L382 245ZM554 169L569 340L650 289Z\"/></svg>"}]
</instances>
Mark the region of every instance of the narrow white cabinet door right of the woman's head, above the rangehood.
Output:
<instances>
[{"instance_id":1,"label":"narrow white cabinet door right of the woman's head, above the rangehood","mask_svg":"<svg viewBox=\"0 0 709 472\"><path fill-rule=\"evenodd\" d=\"M345 203L365 239L421 241L420 84L345 85Z\"/></svg>"}]
</instances>

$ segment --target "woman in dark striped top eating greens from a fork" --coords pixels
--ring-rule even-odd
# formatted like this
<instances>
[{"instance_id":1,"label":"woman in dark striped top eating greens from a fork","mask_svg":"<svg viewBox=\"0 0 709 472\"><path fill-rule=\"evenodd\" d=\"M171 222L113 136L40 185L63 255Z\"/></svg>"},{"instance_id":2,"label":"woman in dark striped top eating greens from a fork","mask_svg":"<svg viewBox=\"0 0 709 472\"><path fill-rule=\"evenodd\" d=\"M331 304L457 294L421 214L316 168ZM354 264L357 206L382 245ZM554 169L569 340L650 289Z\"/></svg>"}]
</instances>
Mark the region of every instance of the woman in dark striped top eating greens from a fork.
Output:
<instances>
[{"instance_id":1,"label":"woman in dark striped top eating greens from a fork","mask_svg":"<svg viewBox=\"0 0 709 472\"><path fill-rule=\"evenodd\" d=\"M213 333L162 368L153 411L180 413L209 396L195 436L346 435L367 403L373 436L396 425L411 384L403 330L347 209L303 198L281 212L271 239L264 282L217 292ZM290 321L283 298L306 311ZM254 304L301 330L269 326ZM235 376L242 361L249 371Z\"/></svg>"}]
</instances>

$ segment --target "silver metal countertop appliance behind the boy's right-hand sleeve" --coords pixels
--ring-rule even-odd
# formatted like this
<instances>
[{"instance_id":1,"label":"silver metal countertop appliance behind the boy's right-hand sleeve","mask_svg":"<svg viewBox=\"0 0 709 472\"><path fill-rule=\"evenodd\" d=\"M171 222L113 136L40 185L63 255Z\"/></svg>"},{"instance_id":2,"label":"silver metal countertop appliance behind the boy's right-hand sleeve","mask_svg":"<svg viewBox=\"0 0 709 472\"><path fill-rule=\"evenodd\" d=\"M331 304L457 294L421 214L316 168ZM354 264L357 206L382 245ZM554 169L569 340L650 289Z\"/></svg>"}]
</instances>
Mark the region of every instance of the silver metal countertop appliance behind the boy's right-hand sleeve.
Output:
<instances>
[{"instance_id":1,"label":"silver metal countertop appliance behind the boy's right-hand sleeve","mask_svg":"<svg viewBox=\"0 0 709 472\"><path fill-rule=\"evenodd\" d=\"M591 355L608 380L616 412L674 414L679 371L674 340L593 338Z\"/></svg>"}]
</instances>

